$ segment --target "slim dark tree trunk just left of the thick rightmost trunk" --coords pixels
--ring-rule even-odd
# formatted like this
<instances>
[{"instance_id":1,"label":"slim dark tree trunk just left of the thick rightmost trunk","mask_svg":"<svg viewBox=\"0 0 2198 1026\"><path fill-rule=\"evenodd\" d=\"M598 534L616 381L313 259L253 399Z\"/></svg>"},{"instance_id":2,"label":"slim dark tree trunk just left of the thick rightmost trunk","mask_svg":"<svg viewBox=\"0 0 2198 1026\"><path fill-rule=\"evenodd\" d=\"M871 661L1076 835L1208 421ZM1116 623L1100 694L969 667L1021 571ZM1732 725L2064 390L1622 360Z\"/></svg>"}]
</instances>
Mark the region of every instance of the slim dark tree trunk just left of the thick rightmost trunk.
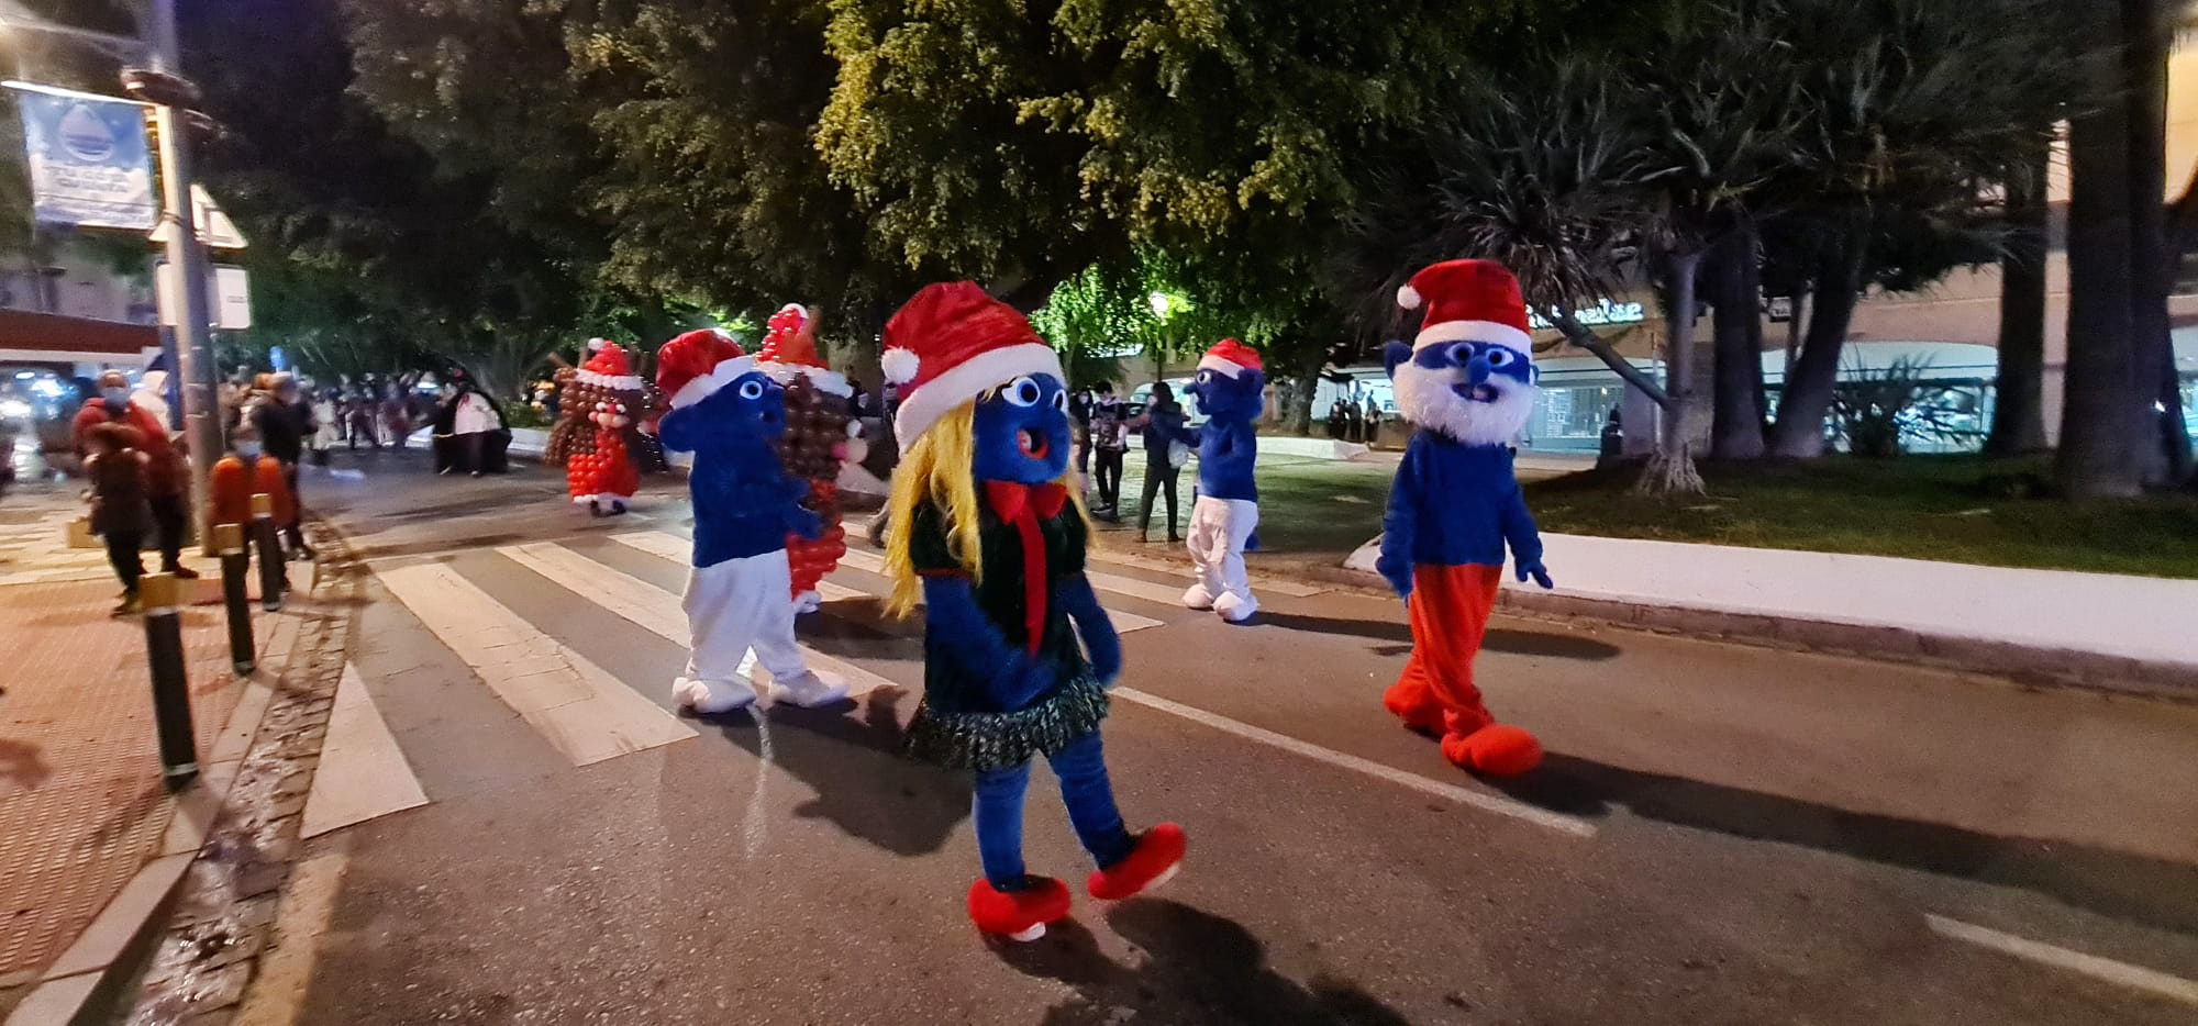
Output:
<instances>
[{"instance_id":1,"label":"slim dark tree trunk just left of the thick rightmost trunk","mask_svg":"<svg viewBox=\"0 0 2198 1026\"><path fill-rule=\"evenodd\" d=\"M2007 253L2000 255L2000 380L1985 455L2044 453L2046 411L2046 165L2040 145L2007 176Z\"/></svg>"}]
</instances>

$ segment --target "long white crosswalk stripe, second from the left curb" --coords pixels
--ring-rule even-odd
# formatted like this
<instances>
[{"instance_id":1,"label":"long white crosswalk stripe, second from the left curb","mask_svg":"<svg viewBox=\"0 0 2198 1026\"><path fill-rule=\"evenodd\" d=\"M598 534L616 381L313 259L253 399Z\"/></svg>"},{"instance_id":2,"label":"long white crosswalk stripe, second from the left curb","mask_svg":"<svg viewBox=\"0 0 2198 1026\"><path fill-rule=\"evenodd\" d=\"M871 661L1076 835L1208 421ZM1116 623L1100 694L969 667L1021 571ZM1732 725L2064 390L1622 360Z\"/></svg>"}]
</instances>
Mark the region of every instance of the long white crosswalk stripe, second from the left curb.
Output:
<instances>
[{"instance_id":1,"label":"long white crosswalk stripe, second from the left curb","mask_svg":"<svg viewBox=\"0 0 2198 1026\"><path fill-rule=\"evenodd\" d=\"M442 562L378 571L382 587L576 767L692 738L580 653L534 628Z\"/></svg>"}]
</instances>

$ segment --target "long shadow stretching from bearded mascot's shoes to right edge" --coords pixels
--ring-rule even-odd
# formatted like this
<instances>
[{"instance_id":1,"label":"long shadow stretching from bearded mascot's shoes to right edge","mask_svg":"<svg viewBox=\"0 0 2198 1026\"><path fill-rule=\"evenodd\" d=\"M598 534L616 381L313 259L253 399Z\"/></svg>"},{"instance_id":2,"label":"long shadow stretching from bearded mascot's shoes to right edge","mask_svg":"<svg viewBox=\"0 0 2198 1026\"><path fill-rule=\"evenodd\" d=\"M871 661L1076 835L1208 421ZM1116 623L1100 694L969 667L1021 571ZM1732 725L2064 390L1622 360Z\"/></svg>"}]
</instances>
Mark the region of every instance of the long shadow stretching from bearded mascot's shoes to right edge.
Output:
<instances>
[{"instance_id":1,"label":"long shadow stretching from bearded mascot's shoes to right edge","mask_svg":"<svg viewBox=\"0 0 2198 1026\"><path fill-rule=\"evenodd\" d=\"M1855 813L1558 754L1532 776L1497 787L1556 813L1607 815L1624 806L1666 824L2020 888L2130 923L2198 932L2198 866L2147 855Z\"/></svg>"}]
</instances>

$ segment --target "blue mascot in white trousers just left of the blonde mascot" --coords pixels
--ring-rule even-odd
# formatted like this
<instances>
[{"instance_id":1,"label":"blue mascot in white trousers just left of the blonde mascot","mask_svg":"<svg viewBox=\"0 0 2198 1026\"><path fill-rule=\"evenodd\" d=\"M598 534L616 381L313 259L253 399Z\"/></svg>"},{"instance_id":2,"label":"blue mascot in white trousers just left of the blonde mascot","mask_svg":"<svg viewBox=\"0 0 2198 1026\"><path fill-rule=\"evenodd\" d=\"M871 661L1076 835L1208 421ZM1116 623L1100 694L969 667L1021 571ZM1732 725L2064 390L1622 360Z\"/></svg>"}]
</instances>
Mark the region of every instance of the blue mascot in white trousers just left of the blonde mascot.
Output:
<instances>
[{"instance_id":1,"label":"blue mascot in white trousers just left of the blonde mascot","mask_svg":"<svg viewBox=\"0 0 2198 1026\"><path fill-rule=\"evenodd\" d=\"M846 688L802 661L793 644L787 534L815 538L815 512L802 508L809 481L778 461L785 395L752 356L719 332L688 332L657 352L657 389L670 411L657 422L664 448L695 453L695 567L686 613L692 653L673 683L681 707L712 714L756 701L741 677L754 648L771 674L771 701L831 705Z\"/></svg>"}]
</instances>

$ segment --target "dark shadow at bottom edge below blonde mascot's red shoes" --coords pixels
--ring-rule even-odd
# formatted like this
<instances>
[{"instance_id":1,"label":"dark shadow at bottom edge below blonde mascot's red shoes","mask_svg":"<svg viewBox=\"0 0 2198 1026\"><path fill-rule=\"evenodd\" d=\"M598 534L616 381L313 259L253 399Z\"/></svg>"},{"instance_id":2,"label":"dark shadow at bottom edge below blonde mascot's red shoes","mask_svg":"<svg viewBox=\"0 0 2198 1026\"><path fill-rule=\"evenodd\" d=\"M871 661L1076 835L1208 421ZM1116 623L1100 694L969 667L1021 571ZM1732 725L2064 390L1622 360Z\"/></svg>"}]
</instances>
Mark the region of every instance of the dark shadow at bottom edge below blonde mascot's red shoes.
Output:
<instances>
[{"instance_id":1,"label":"dark shadow at bottom edge below blonde mascot's red shoes","mask_svg":"<svg viewBox=\"0 0 2198 1026\"><path fill-rule=\"evenodd\" d=\"M1259 938L1189 905L1130 901L1108 914L1108 925L1145 951L1141 964L1106 958L1075 921L1055 923L1044 940L998 947L1015 971L1077 989L1046 1011L1044 1026L1407 1024L1356 984L1314 978L1303 986L1268 969Z\"/></svg>"}]
</instances>

